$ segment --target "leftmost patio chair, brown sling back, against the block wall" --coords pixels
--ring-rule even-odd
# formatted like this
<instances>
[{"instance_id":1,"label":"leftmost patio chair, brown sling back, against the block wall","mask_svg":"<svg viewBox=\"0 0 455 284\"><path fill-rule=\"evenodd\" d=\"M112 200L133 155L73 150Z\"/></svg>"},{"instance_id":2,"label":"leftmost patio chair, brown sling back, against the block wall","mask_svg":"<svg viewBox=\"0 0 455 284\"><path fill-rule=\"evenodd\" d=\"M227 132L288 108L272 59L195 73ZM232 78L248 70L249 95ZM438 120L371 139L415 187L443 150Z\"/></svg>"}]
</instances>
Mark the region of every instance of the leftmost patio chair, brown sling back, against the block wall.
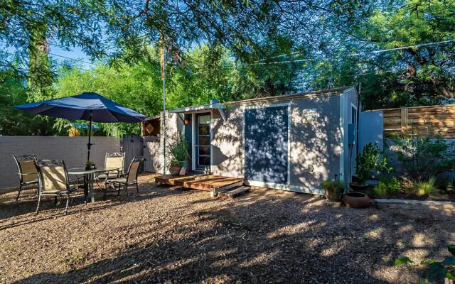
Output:
<instances>
[{"instance_id":1,"label":"leftmost patio chair, brown sling back, against the block wall","mask_svg":"<svg viewBox=\"0 0 455 284\"><path fill-rule=\"evenodd\" d=\"M35 167L35 155L13 155L13 157L19 171L19 187L16 197L16 201L18 201L19 196L21 195L22 187L28 185L38 185L38 172Z\"/></svg>"}]
</instances>

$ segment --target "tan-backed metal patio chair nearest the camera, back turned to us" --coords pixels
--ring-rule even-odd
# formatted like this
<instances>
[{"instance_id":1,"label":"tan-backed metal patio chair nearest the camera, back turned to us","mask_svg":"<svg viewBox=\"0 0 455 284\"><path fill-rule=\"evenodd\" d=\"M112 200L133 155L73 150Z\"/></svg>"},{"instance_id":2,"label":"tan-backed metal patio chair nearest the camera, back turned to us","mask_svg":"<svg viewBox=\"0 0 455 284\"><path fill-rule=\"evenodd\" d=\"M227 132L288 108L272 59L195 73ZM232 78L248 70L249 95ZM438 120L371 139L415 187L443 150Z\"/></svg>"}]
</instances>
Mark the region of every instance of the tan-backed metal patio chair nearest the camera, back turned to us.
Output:
<instances>
[{"instance_id":1,"label":"tan-backed metal patio chair nearest the camera, back turned to us","mask_svg":"<svg viewBox=\"0 0 455 284\"><path fill-rule=\"evenodd\" d=\"M38 206L35 213L38 214L41 197L53 196L56 199L65 196L65 214L67 214L70 193L77 190L77 185L70 186L65 162L63 160L36 160L35 166L38 170L39 180Z\"/></svg>"}]
</instances>

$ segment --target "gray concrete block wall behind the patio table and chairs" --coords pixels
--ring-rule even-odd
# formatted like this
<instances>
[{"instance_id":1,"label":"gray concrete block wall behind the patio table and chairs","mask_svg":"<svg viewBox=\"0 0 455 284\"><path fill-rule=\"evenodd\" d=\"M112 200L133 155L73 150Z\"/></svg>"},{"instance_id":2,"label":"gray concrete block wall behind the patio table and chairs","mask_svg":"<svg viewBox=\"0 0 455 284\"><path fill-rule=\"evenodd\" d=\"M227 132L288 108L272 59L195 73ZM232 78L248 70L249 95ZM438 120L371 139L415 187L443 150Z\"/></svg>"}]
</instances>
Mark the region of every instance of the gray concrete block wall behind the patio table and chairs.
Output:
<instances>
[{"instance_id":1,"label":"gray concrete block wall behind the patio table and chairs","mask_svg":"<svg viewBox=\"0 0 455 284\"><path fill-rule=\"evenodd\" d=\"M16 187L18 172L13 155L35 154L38 159L64 160L67 168L83 168L87 160L87 137L0 136L0 189ZM91 158L97 166L105 164L106 152L120 151L114 137L92 137Z\"/></svg>"}]
</instances>

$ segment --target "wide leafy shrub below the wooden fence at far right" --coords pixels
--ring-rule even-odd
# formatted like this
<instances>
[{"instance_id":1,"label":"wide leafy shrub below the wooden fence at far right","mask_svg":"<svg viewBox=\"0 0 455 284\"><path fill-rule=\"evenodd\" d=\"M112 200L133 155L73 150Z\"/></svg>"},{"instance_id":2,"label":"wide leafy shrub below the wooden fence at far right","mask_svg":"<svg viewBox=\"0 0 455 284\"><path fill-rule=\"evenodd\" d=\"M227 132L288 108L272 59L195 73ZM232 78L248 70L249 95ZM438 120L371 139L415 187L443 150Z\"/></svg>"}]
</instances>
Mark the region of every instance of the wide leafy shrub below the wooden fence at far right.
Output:
<instances>
[{"instance_id":1,"label":"wide leafy shrub below the wooden fence at far right","mask_svg":"<svg viewBox=\"0 0 455 284\"><path fill-rule=\"evenodd\" d=\"M396 138L393 151L413 180L429 180L455 166L455 145L441 138Z\"/></svg>"}]
</instances>

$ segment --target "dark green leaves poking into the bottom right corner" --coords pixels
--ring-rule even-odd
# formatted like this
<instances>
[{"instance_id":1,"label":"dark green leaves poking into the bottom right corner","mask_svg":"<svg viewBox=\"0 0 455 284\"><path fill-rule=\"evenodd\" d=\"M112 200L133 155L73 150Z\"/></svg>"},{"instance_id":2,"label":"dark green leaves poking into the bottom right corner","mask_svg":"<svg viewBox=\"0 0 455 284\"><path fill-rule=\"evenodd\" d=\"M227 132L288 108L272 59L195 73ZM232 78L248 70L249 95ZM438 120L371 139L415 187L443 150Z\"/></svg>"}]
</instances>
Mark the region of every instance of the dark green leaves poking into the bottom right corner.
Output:
<instances>
[{"instance_id":1,"label":"dark green leaves poking into the bottom right corner","mask_svg":"<svg viewBox=\"0 0 455 284\"><path fill-rule=\"evenodd\" d=\"M427 268L426 277L421 279L420 283L437 282L446 279L455 280L455 245L447 247L452 256L446 256L444 261L422 261L421 266ZM407 263L414 266L414 262L407 256L395 259L395 266Z\"/></svg>"}]
</instances>

